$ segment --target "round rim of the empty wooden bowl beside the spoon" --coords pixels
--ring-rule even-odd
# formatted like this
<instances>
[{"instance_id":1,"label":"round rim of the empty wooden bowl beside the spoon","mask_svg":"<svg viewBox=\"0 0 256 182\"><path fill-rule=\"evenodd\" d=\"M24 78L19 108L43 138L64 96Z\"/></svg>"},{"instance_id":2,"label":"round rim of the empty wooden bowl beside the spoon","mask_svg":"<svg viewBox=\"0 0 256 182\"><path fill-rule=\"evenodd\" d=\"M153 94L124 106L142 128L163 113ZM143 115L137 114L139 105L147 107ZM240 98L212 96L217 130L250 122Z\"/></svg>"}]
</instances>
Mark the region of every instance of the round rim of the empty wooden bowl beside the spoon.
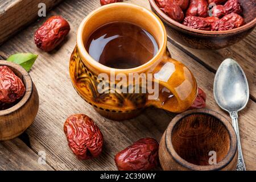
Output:
<instances>
[{"instance_id":1,"label":"round rim of the empty wooden bowl beside the spoon","mask_svg":"<svg viewBox=\"0 0 256 182\"><path fill-rule=\"evenodd\" d=\"M192 164L181 158L177 152L174 149L174 146L172 145L171 138L172 138L172 130L174 129L175 125L184 117L188 117L189 115L192 114L207 114L211 115L212 117L217 118L226 128L226 130L229 133L229 138L230 138L230 148L228 151L228 154L225 156L224 159L221 160L221 162L215 164L215 165L208 165L208 166L199 166L196 164ZM179 163L181 166L187 167L188 169L191 170L196 170L196 171L213 171L213 170L220 170L226 166L230 162L232 162L234 156L236 155L237 152L237 135L236 132L234 131L233 126L231 123L226 119L223 115L220 113L217 113L216 111L213 110L208 110L208 109L194 109L194 110L188 110L185 111L184 113L181 113L179 115L176 115L174 119L170 122L170 124L167 127L166 130L166 135L164 136L166 140L166 148L168 153L172 156L172 158Z\"/></svg>"}]
</instances>

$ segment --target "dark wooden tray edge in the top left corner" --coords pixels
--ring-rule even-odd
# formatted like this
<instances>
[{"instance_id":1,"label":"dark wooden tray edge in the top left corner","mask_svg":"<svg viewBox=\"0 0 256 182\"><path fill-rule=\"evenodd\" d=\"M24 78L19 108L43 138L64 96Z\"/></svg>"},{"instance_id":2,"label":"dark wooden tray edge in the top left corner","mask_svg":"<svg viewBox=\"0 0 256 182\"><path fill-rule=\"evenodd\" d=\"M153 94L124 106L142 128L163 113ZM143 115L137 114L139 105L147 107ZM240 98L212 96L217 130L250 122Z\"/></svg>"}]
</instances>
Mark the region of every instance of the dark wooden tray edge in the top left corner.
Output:
<instances>
[{"instance_id":1,"label":"dark wooden tray edge in the top left corner","mask_svg":"<svg viewBox=\"0 0 256 182\"><path fill-rule=\"evenodd\" d=\"M45 3L47 10L61 0L5 0L0 1L0 44L22 27L38 19L38 4Z\"/></svg>"}]
</instances>

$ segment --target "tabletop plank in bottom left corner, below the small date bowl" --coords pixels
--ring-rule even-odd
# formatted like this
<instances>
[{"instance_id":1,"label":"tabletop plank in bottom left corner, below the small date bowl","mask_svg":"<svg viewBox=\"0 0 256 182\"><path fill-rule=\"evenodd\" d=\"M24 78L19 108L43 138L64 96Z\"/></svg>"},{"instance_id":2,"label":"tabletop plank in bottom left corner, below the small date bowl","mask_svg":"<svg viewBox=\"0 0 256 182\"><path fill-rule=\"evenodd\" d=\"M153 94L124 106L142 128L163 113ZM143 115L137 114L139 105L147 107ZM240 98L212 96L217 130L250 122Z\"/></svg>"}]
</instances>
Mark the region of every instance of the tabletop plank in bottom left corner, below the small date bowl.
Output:
<instances>
[{"instance_id":1,"label":"tabletop plank in bottom left corner, below the small date bowl","mask_svg":"<svg viewBox=\"0 0 256 182\"><path fill-rule=\"evenodd\" d=\"M0 142L0 170L53 170L48 164L38 163L39 156L22 142L13 140Z\"/></svg>"}]
</instances>

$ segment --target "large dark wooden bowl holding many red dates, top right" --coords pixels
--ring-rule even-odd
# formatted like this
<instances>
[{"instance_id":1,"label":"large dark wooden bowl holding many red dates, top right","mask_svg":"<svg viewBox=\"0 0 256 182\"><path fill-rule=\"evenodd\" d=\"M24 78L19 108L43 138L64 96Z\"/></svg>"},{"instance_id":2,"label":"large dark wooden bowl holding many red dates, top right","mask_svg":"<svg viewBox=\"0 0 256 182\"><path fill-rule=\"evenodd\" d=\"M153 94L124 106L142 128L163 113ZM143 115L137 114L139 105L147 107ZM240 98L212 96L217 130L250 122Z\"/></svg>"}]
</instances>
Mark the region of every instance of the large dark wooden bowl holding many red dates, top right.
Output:
<instances>
[{"instance_id":1,"label":"large dark wooden bowl holding many red dates, top right","mask_svg":"<svg viewBox=\"0 0 256 182\"><path fill-rule=\"evenodd\" d=\"M171 38L187 47L196 49L225 48L245 38L256 26L256 7L252 0L240 0L246 24L226 31L204 31L189 28L164 14L156 5L155 0L149 0L149 2L155 13L170 27Z\"/></svg>"}]
</instances>

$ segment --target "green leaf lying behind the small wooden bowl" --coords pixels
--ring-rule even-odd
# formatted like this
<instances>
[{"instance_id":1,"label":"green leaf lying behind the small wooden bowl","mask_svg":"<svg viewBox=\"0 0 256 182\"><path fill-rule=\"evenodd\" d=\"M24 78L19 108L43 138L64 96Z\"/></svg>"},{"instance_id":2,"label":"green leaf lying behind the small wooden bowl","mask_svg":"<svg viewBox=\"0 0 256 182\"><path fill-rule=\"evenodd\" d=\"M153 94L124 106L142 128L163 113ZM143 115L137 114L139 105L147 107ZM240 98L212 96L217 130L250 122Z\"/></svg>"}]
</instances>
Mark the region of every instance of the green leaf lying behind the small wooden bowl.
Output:
<instances>
[{"instance_id":1,"label":"green leaf lying behind the small wooden bowl","mask_svg":"<svg viewBox=\"0 0 256 182\"><path fill-rule=\"evenodd\" d=\"M38 55L32 53L16 53L11 55L7 61L21 65L28 72L35 63L36 58L38 58Z\"/></svg>"}]
</instances>

